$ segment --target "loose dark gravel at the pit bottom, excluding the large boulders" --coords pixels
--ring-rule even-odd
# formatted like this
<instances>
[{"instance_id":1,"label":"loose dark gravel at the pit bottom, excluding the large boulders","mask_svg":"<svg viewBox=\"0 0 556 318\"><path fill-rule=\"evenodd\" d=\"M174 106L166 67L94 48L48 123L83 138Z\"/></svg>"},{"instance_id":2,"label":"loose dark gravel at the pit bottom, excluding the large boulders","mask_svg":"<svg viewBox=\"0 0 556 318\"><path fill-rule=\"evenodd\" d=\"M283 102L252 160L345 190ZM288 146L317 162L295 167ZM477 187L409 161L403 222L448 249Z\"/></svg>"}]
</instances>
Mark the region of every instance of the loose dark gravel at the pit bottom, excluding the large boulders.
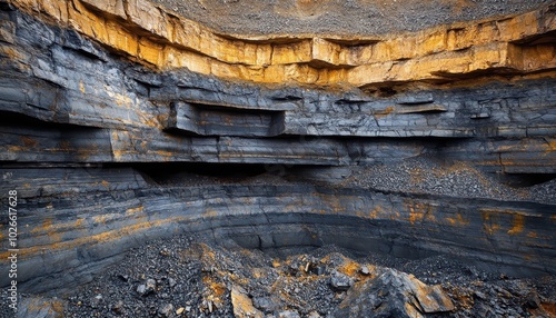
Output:
<instances>
[{"instance_id":1,"label":"loose dark gravel at the pit bottom, excluding the large boulders","mask_svg":"<svg viewBox=\"0 0 556 318\"><path fill-rule=\"evenodd\" d=\"M346 297L344 286L349 289L342 280L364 279L364 267L386 264L443 286L456 311L435 317L538 317L542 306L556 302L555 277L495 276L443 256L357 257L325 246L277 257L176 236L132 249L121 264L76 290L64 299L64 317L234 317L235 287L269 317L334 317Z\"/></svg>"}]
</instances>

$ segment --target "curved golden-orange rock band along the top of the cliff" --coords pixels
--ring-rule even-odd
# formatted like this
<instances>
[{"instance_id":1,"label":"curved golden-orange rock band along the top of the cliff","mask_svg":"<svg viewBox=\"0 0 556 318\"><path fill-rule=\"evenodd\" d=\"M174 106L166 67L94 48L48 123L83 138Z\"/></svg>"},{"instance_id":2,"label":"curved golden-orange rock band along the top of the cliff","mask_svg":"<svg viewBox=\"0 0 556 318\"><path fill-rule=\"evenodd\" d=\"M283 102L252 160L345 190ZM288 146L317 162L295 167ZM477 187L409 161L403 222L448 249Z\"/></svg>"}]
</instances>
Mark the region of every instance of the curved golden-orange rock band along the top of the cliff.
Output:
<instances>
[{"instance_id":1,"label":"curved golden-orange rock band along the top of the cliff","mask_svg":"<svg viewBox=\"0 0 556 318\"><path fill-rule=\"evenodd\" d=\"M556 11L549 6L513 17L359 39L221 36L145 0L10 2L33 16L46 13L50 21L158 69L187 68L255 82L361 87L486 70L522 74L556 68L556 58L546 53L553 42L523 44L556 30Z\"/></svg>"}]
</instances>

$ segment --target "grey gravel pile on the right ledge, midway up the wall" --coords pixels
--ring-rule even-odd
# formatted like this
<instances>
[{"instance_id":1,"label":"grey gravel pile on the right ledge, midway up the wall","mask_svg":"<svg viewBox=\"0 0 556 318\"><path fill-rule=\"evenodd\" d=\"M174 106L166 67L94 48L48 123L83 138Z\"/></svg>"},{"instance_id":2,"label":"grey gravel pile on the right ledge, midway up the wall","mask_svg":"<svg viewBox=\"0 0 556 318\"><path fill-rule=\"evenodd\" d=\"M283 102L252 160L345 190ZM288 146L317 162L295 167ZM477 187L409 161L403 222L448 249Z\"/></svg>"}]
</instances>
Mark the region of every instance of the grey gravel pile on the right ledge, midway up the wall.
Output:
<instances>
[{"instance_id":1,"label":"grey gravel pile on the right ledge, midway up the wall","mask_svg":"<svg viewBox=\"0 0 556 318\"><path fill-rule=\"evenodd\" d=\"M427 157L356 168L341 185L458 198L556 202L556 179L528 187L510 187L496 175L485 173L465 162Z\"/></svg>"}]
</instances>

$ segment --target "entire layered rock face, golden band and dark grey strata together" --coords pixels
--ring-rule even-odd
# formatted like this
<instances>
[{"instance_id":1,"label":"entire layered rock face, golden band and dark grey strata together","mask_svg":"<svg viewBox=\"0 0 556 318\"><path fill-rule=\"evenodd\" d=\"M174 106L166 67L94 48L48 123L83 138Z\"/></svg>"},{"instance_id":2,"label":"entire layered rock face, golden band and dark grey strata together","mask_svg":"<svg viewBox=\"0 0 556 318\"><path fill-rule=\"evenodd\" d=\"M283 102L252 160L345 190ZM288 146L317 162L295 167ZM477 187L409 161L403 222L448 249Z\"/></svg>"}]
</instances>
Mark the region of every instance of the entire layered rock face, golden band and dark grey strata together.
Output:
<instances>
[{"instance_id":1,"label":"entire layered rock face, golden band and dark grey strata together","mask_svg":"<svg viewBox=\"0 0 556 318\"><path fill-rule=\"evenodd\" d=\"M0 1L0 188L18 192L19 287L89 281L127 249L185 231L554 274L549 195L348 177L433 158L553 178L555 12L380 38L229 37L142 0ZM316 167L337 182L307 177ZM187 175L197 168L225 178ZM232 178L257 171L291 179Z\"/></svg>"}]
</instances>

